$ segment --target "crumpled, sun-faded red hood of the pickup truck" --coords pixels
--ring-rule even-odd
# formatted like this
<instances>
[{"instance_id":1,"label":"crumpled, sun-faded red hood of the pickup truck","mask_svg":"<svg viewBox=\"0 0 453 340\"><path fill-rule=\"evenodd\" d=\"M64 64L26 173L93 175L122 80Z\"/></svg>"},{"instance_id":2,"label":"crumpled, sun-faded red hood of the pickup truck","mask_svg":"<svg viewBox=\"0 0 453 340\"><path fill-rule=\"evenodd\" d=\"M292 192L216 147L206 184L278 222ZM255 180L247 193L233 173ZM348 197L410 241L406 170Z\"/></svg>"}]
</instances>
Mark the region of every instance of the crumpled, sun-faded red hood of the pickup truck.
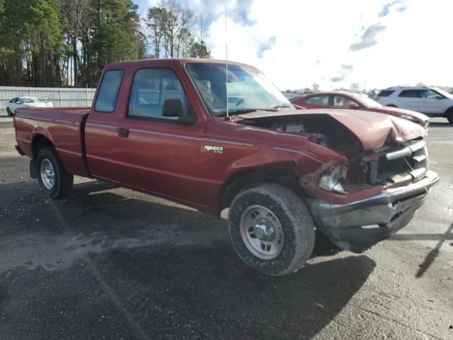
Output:
<instances>
[{"instance_id":1,"label":"crumpled, sun-faded red hood of the pickup truck","mask_svg":"<svg viewBox=\"0 0 453 340\"><path fill-rule=\"evenodd\" d=\"M401 143L426 135L425 129L420 125L403 118L362 110L322 108L279 112L258 111L234 116L232 120L303 118L307 115L330 115L356 135L365 150L377 149L386 142Z\"/></svg>"}]
</instances>

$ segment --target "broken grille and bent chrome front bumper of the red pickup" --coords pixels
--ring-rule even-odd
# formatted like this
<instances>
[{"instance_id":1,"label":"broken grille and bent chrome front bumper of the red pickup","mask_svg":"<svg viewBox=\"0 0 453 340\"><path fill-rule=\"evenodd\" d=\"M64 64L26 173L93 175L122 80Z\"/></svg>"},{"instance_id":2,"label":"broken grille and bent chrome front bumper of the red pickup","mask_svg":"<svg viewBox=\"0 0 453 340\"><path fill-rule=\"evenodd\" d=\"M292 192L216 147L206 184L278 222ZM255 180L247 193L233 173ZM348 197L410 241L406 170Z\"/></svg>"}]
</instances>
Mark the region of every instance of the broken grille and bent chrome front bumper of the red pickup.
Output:
<instances>
[{"instance_id":1,"label":"broken grille and bent chrome front bumper of the red pickup","mask_svg":"<svg viewBox=\"0 0 453 340\"><path fill-rule=\"evenodd\" d=\"M360 167L355 170L362 171L364 181L360 183L356 178L355 183L343 182L344 188L379 188L380 192L357 200L348 200L345 193L340 199L314 198L307 203L319 229L341 248L355 252L364 251L406 226L423 205L430 186L439 180L428 169L423 140L364 152L360 163L352 162L352 166ZM344 176L338 182L346 179Z\"/></svg>"}]
</instances>

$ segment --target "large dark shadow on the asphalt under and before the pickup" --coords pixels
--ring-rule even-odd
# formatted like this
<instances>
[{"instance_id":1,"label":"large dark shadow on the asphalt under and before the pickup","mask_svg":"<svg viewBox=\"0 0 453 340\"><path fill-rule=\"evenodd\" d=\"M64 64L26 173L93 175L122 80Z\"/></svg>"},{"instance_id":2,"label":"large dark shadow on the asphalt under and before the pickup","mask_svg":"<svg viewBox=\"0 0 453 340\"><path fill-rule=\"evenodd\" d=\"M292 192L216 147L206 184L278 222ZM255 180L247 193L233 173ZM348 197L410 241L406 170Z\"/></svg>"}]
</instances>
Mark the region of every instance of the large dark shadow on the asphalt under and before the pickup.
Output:
<instances>
[{"instance_id":1,"label":"large dark shadow on the asphalt under and before the pickup","mask_svg":"<svg viewBox=\"0 0 453 340\"><path fill-rule=\"evenodd\" d=\"M29 209L20 242L2 236L6 259L30 256L0 278L6 338L310 339L376 266L354 255L263 276L236 256L226 221L96 181Z\"/></svg>"}]
</instances>

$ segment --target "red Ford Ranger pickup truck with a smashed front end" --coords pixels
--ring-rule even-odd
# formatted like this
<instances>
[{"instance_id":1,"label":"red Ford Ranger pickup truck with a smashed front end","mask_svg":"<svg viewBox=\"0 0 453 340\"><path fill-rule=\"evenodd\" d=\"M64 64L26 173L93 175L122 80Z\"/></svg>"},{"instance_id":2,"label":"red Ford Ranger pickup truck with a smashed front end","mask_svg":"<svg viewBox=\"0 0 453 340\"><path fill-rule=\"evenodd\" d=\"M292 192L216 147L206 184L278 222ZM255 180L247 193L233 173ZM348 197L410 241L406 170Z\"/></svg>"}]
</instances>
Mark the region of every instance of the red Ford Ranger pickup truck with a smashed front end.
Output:
<instances>
[{"instance_id":1,"label":"red Ford Ranger pickup truck with a smashed front end","mask_svg":"<svg viewBox=\"0 0 453 340\"><path fill-rule=\"evenodd\" d=\"M215 215L229 208L237 254L273 276L309 259L316 229L355 252L389 237L439 179L420 126L296 111L257 69L216 60L109 64L91 110L21 108L14 125L51 198L78 175Z\"/></svg>"}]
</instances>

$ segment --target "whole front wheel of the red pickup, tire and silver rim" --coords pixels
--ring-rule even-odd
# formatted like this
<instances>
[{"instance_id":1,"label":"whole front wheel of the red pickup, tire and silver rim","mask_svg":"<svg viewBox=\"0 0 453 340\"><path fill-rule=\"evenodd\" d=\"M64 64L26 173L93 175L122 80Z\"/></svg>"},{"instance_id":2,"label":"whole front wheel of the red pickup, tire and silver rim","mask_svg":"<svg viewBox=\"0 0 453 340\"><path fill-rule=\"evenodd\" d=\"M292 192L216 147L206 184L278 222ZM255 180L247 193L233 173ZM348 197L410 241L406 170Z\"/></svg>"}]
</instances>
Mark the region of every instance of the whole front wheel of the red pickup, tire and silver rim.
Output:
<instances>
[{"instance_id":1,"label":"whole front wheel of the red pickup, tire and silver rim","mask_svg":"<svg viewBox=\"0 0 453 340\"><path fill-rule=\"evenodd\" d=\"M315 229L292 191L263 184L239 193L229 209L229 234L247 266L270 276L297 271L310 258Z\"/></svg>"}]
</instances>

